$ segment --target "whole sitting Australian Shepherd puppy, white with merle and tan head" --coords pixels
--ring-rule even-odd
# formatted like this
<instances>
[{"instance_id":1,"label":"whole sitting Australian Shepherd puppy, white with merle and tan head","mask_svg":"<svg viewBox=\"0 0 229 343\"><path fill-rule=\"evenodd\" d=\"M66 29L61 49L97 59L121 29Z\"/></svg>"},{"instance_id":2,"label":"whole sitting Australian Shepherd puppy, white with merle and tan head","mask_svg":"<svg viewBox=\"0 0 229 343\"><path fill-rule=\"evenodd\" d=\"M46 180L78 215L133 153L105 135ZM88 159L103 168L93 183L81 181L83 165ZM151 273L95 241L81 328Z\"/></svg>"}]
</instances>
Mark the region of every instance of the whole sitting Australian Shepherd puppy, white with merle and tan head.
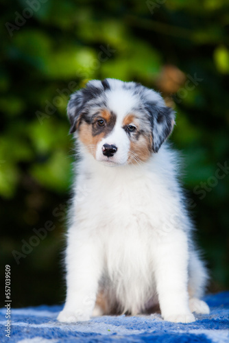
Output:
<instances>
[{"instance_id":1,"label":"whole sitting Australian Shepherd puppy, white with merle and tan head","mask_svg":"<svg viewBox=\"0 0 229 343\"><path fill-rule=\"evenodd\" d=\"M67 299L58 320L140 314L193 322L206 269L167 143L174 113L135 82L93 80L71 96L77 139L75 196L67 234ZM184 132L185 134L185 132Z\"/></svg>"}]
</instances>

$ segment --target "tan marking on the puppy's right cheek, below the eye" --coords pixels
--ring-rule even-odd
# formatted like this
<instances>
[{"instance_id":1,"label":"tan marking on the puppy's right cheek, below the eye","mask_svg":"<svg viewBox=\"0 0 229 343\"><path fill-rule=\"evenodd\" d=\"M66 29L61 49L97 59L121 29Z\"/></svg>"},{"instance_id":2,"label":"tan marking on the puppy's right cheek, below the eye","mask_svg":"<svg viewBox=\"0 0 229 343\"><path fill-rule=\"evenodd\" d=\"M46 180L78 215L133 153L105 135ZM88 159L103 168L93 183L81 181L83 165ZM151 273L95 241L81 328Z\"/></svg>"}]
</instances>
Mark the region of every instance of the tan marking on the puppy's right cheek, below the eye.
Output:
<instances>
[{"instance_id":1,"label":"tan marking on the puppy's right cheek, below the eye","mask_svg":"<svg viewBox=\"0 0 229 343\"><path fill-rule=\"evenodd\" d=\"M128 163L137 164L148 160L152 152L152 137L139 137L138 141L130 141Z\"/></svg>"}]
</instances>

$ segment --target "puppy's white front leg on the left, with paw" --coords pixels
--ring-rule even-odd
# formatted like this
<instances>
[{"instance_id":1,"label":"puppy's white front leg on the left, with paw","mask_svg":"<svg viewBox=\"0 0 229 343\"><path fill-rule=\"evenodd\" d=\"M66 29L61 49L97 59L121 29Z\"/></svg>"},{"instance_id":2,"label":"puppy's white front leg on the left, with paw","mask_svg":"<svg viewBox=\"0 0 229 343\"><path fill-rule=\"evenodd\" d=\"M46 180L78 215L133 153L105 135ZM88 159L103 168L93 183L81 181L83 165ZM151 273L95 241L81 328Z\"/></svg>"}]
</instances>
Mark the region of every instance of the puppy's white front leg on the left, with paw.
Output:
<instances>
[{"instance_id":1,"label":"puppy's white front leg on the left, with paw","mask_svg":"<svg viewBox=\"0 0 229 343\"><path fill-rule=\"evenodd\" d=\"M101 274L101 259L92 237L69 235L67 247L67 299L60 322L89 320Z\"/></svg>"}]
</instances>

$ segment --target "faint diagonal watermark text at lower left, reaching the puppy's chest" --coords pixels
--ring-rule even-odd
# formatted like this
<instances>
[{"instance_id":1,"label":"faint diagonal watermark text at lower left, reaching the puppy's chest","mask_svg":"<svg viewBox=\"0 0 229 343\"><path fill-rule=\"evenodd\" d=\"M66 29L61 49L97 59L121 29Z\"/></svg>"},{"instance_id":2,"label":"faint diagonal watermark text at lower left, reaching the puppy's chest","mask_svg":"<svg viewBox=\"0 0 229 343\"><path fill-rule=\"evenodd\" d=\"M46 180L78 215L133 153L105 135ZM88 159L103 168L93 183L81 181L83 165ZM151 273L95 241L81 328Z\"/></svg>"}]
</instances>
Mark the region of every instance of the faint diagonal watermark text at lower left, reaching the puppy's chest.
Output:
<instances>
[{"instance_id":1,"label":"faint diagonal watermark text at lower left, reaching the puppy's chest","mask_svg":"<svg viewBox=\"0 0 229 343\"><path fill-rule=\"evenodd\" d=\"M82 185L77 187L77 202L82 202L86 197L89 196L91 189L88 189L86 185ZM64 204L59 204L56 206L55 209L52 211L53 217L58 218L58 222L64 222L66 219L67 215L67 209L69 208L71 204L71 200L67 201ZM12 250L12 255L16 261L16 264L19 265L21 262L21 259L25 259L27 255L29 255L34 248L36 248L39 244L40 241L43 241L49 232L54 230L56 228L56 225L53 223L52 220L47 220L45 222L44 226L41 228L33 228L33 235L27 239L21 239L21 250Z\"/></svg>"}]
</instances>

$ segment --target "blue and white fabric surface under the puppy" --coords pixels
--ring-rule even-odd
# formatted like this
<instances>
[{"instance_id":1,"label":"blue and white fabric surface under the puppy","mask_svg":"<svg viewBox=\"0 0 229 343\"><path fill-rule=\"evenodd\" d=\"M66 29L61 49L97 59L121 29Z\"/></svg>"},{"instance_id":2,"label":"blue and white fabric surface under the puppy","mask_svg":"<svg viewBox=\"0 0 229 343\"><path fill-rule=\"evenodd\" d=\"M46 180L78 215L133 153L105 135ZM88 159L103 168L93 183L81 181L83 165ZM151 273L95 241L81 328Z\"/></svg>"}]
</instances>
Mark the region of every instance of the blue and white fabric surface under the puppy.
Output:
<instances>
[{"instance_id":1,"label":"blue and white fabric surface under the puppy","mask_svg":"<svg viewBox=\"0 0 229 343\"><path fill-rule=\"evenodd\" d=\"M102 316L89 322L64 324L56 320L61 306L10 309L11 335L5 337L6 308L0 309L0 342L220 342L229 343L229 292L209 295L209 315L196 315L190 324L173 324L159 314Z\"/></svg>"}]
</instances>

